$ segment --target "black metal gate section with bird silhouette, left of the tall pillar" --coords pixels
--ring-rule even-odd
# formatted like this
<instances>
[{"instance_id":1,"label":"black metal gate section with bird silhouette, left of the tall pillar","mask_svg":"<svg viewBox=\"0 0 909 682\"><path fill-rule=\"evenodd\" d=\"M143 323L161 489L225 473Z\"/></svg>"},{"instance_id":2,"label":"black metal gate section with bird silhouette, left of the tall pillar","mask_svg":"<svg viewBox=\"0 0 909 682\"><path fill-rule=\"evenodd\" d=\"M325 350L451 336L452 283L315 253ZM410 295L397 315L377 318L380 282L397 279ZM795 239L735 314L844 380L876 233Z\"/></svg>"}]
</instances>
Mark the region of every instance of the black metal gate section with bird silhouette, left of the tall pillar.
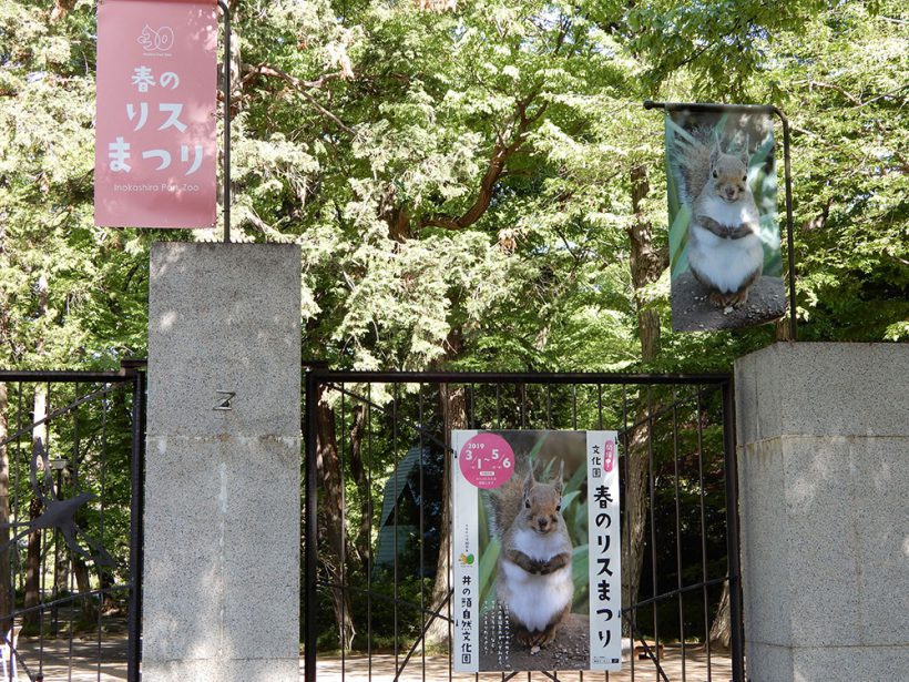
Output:
<instances>
[{"instance_id":1,"label":"black metal gate section with bird silhouette, left of the tall pillar","mask_svg":"<svg viewBox=\"0 0 909 682\"><path fill-rule=\"evenodd\" d=\"M0 370L0 680L140 679L142 365Z\"/></svg>"}]
</instances>

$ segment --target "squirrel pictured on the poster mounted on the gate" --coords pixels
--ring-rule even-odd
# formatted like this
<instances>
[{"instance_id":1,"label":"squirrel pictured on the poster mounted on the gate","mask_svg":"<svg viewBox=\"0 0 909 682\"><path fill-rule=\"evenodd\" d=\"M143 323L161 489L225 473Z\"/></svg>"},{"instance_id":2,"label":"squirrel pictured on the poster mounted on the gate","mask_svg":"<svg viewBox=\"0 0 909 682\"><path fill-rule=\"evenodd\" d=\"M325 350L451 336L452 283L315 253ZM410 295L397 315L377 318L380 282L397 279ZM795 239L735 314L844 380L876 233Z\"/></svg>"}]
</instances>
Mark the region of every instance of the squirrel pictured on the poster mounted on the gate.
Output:
<instances>
[{"instance_id":1,"label":"squirrel pictured on the poster mounted on the gate","mask_svg":"<svg viewBox=\"0 0 909 682\"><path fill-rule=\"evenodd\" d=\"M515 474L518 474L515 471ZM562 477L534 479L533 466L523 481L512 476L490 491L492 531L501 538L497 597L508 609L518 641L545 647L571 611L571 538L562 518Z\"/></svg>"}]
</instances>

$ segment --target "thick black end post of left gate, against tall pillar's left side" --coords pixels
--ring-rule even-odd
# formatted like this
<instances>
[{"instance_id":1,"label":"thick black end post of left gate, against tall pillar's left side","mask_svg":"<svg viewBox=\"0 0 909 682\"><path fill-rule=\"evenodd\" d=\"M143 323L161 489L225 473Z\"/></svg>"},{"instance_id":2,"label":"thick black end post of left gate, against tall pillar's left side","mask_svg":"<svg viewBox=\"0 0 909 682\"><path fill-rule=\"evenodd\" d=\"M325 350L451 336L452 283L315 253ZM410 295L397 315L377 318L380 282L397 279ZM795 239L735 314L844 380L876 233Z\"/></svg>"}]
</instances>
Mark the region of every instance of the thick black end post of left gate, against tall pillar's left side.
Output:
<instances>
[{"instance_id":1,"label":"thick black end post of left gate, against tall pillar's left side","mask_svg":"<svg viewBox=\"0 0 909 682\"><path fill-rule=\"evenodd\" d=\"M130 452L130 613L126 680L139 682L142 661L142 573L143 527L145 495L145 373L133 375L132 448Z\"/></svg>"}]
</instances>

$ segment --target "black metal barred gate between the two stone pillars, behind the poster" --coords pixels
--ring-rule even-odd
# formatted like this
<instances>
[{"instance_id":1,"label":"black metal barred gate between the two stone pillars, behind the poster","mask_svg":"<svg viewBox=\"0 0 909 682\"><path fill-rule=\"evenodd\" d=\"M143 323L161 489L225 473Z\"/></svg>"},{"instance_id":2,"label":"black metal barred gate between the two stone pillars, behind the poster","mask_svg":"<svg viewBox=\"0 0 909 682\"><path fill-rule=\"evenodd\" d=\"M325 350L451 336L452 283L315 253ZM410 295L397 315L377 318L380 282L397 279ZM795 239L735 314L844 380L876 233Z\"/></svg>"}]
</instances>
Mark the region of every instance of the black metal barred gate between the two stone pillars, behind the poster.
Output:
<instances>
[{"instance_id":1,"label":"black metal barred gate between the two stone pillars, behind the poster","mask_svg":"<svg viewBox=\"0 0 909 682\"><path fill-rule=\"evenodd\" d=\"M529 681L744 682L733 413L725 374L309 366L307 682L519 674L452 670L446 482L452 428L620 432L623 574L637 577L623 586L632 594L622 610L631 640L623 670L537 671L527 673Z\"/></svg>"}]
</instances>

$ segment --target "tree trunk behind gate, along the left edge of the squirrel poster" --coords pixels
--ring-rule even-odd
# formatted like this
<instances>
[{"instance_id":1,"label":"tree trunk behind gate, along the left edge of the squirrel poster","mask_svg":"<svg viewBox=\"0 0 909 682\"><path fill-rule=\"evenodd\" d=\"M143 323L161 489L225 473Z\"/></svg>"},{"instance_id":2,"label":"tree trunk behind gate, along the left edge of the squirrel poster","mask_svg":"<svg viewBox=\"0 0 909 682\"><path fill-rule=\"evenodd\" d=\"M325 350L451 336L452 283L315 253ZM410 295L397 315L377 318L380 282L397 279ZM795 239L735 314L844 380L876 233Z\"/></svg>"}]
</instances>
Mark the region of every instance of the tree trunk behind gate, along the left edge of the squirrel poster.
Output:
<instances>
[{"instance_id":1,"label":"tree trunk behind gate, along the left edge of the squirrel poster","mask_svg":"<svg viewBox=\"0 0 909 682\"><path fill-rule=\"evenodd\" d=\"M439 384L439 411L442 415L442 440L451 444L451 430L467 427L467 396L463 387L452 389L448 384ZM451 589L451 454L445 454L445 471L442 474L442 521L439 529L439 559L436 562L436 583L432 586L432 597L429 608L440 615L448 613L442 604L448 599ZM426 633L426 643L442 647L448 642L448 621L436 618L429 624Z\"/></svg>"}]
</instances>

